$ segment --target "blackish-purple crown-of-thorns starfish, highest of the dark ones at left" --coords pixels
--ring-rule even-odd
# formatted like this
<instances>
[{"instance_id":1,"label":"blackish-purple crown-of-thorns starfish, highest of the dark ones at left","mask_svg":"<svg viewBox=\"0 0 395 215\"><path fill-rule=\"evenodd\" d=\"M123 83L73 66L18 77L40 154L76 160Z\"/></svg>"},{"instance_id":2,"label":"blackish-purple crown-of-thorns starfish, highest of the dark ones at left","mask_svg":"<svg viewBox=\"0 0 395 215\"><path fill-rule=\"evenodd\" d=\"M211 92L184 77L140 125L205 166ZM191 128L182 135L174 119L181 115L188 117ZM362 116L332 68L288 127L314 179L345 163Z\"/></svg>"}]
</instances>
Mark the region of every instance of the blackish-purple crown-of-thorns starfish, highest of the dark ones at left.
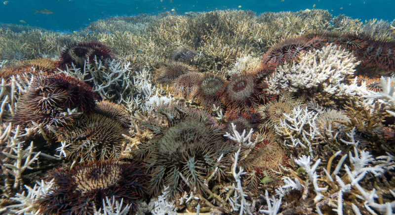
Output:
<instances>
[{"instance_id":1,"label":"blackish-purple crown-of-thorns starfish, highest of the dark ones at left","mask_svg":"<svg viewBox=\"0 0 395 215\"><path fill-rule=\"evenodd\" d=\"M113 58L113 51L97 41L68 44L60 53L56 67L65 69L66 66L74 64L77 68L83 68L87 59L89 59L89 63L94 63L95 60L104 62L111 61Z\"/></svg>"}]
</instances>

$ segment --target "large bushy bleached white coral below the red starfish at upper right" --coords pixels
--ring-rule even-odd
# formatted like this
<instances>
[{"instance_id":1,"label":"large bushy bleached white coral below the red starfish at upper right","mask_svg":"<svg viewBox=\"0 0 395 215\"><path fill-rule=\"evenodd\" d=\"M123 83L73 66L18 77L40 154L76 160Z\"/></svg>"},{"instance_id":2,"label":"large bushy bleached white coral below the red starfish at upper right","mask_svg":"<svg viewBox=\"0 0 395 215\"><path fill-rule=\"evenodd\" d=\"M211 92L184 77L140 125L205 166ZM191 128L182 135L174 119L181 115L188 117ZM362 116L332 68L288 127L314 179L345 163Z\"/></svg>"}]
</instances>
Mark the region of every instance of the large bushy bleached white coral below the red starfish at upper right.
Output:
<instances>
[{"instance_id":1,"label":"large bushy bleached white coral below the red starfish at upper right","mask_svg":"<svg viewBox=\"0 0 395 215\"><path fill-rule=\"evenodd\" d=\"M367 95L369 91L365 86L357 86L356 80L350 85L344 83L347 76L354 74L358 64L351 52L330 44L321 50L303 53L297 62L279 65L268 79L269 90L296 92L318 87L336 96Z\"/></svg>"}]
</instances>

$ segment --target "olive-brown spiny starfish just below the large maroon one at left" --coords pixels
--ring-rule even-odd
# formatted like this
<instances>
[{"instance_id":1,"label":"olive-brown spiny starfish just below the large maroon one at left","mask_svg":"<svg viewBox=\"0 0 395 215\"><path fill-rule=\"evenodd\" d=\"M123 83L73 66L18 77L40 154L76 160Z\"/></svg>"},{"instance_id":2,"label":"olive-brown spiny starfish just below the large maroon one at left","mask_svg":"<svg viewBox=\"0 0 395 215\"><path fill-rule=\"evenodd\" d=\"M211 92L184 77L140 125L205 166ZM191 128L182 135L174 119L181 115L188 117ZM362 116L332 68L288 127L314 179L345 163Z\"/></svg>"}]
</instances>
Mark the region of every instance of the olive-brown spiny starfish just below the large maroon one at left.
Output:
<instances>
[{"instance_id":1,"label":"olive-brown spiny starfish just below the large maroon one at left","mask_svg":"<svg viewBox=\"0 0 395 215\"><path fill-rule=\"evenodd\" d=\"M81 115L72 124L56 133L59 142L70 144L68 159L96 161L119 159L126 133L122 124L101 114Z\"/></svg>"}]
</instances>

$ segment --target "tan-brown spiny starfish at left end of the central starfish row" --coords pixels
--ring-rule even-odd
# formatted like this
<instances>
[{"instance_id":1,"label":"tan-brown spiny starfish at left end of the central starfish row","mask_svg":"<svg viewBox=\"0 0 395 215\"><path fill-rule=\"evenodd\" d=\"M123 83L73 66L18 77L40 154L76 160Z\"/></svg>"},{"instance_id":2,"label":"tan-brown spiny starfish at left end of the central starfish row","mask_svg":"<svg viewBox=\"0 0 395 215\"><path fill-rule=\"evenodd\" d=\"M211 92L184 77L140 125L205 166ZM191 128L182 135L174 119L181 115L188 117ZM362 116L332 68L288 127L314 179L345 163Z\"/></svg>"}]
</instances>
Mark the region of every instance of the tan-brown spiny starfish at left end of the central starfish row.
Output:
<instances>
[{"instance_id":1,"label":"tan-brown spiny starfish at left end of the central starfish row","mask_svg":"<svg viewBox=\"0 0 395 215\"><path fill-rule=\"evenodd\" d=\"M159 84L173 84L181 75L197 72L196 68L182 62L168 62L155 72L155 80Z\"/></svg>"}]
</instances>

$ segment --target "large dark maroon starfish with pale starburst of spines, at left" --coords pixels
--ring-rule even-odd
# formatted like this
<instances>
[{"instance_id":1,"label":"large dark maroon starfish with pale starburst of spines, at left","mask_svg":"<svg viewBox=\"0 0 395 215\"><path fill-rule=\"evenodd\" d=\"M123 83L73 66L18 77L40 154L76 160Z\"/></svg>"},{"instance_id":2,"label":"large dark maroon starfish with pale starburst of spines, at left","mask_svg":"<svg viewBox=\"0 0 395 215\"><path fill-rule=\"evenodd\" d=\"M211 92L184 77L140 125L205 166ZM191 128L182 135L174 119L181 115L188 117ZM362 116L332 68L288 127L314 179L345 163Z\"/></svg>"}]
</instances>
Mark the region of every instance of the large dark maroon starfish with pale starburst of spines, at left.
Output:
<instances>
[{"instance_id":1,"label":"large dark maroon starfish with pale starburst of spines, at left","mask_svg":"<svg viewBox=\"0 0 395 215\"><path fill-rule=\"evenodd\" d=\"M61 74L40 75L18 101L10 122L23 127L31 121L42 125L62 126L72 120L68 109L90 113L95 108L95 93L83 82Z\"/></svg>"}]
</instances>

